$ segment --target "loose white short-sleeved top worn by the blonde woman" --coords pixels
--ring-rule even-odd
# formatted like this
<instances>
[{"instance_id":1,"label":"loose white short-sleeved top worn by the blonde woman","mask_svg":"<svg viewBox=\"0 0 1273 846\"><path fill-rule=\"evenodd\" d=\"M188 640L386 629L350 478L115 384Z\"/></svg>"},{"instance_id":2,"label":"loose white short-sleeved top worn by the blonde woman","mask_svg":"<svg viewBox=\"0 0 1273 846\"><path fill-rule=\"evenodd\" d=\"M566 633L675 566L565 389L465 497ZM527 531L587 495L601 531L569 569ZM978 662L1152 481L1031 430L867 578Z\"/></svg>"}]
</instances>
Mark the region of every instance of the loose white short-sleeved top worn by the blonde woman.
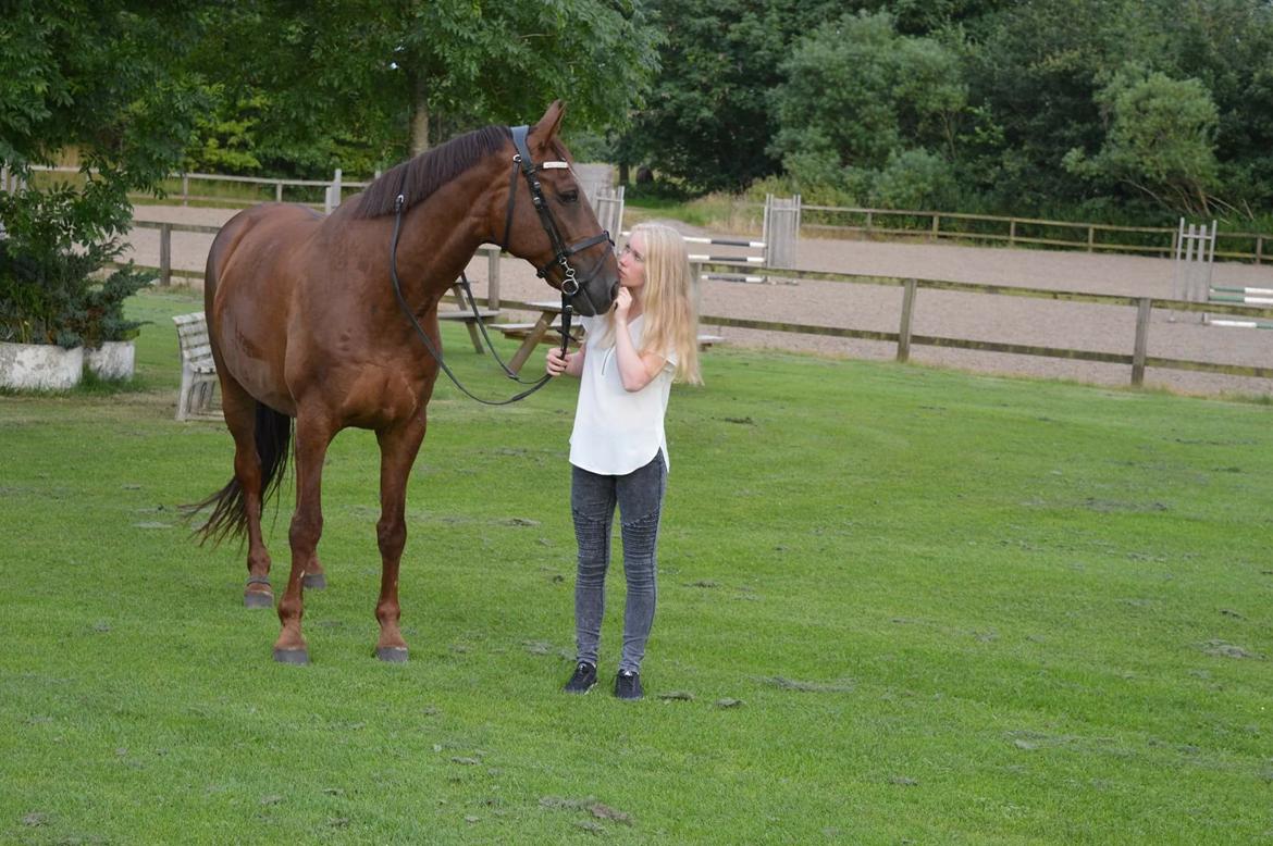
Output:
<instances>
[{"instance_id":1,"label":"loose white short-sleeved top worn by the blonde woman","mask_svg":"<svg viewBox=\"0 0 1273 846\"><path fill-rule=\"evenodd\" d=\"M606 318L584 317L582 323L587 332L587 355L579 374L570 463L600 476L624 476L648 464L662 449L663 461L671 469L663 416L672 392L676 352L666 352L667 364L644 388L629 392L619 375L614 341L603 337L607 335ZM628 333L638 351L642 351L644 326L644 314L628 323ZM598 346L602 341L608 346Z\"/></svg>"}]
</instances>

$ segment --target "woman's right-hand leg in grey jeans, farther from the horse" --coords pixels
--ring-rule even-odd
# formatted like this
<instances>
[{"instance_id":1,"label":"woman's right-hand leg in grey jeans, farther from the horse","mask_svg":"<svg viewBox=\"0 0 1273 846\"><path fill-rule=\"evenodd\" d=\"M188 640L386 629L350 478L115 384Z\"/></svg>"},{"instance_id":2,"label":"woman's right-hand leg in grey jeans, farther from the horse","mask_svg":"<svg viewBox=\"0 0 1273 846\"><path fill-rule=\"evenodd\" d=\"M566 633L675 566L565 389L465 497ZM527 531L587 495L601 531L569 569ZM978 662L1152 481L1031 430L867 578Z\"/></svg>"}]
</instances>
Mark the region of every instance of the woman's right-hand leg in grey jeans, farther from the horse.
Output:
<instances>
[{"instance_id":1,"label":"woman's right-hand leg in grey jeans, farther from the horse","mask_svg":"<svg viewBox=\"0 0 1273 846\"><path fill-rule=\"evenodd\" d=\"M628 580L624 650L619 669L639 673L658 599L658 524L667 490L663 453L656 454L654 461L640 469L620 476L616 487L622 520L624 575Z\"/></svg>"}]
</instances>

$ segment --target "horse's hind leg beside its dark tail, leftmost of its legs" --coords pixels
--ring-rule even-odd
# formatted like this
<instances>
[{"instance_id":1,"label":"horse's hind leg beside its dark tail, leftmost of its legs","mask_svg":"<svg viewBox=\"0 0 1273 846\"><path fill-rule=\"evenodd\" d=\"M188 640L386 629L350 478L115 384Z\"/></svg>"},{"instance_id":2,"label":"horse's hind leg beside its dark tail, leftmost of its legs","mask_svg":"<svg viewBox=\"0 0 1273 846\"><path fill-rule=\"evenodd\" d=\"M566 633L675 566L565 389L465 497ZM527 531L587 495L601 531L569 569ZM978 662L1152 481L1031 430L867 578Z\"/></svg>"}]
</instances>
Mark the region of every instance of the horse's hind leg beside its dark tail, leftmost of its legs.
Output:
<instances>
[{"instance_id":1,"label":"horse's hind leg beside its dark tail, leftmost of its legs","mask_svg":"<svg viewBox=\"0 0 1273 846\"><path fill-rule=\"evenodd\" d=\"M247 529L247 586L243 590L243 604L248 608L272 608L270 552L261 536L265 475L256 445L256 399L238 383L223 378L222 408L225 425L234 438L234 478L242 491Z\"/></svg>"}]
</instances>

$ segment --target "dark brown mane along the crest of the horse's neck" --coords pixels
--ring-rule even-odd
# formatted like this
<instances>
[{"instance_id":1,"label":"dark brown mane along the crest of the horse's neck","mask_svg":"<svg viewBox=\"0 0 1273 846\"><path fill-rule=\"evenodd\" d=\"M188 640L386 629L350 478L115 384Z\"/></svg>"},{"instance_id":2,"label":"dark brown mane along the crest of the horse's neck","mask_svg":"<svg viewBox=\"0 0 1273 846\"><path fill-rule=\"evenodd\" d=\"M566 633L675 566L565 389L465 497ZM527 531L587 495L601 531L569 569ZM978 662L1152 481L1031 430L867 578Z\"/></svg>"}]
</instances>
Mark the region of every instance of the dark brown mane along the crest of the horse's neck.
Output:
<instances>
[{"instance_id":1,"label":"dark brown mane along the crest of the horse's neck","mask_svg":"<svg viewBox=\"0 0 1273 846\"><path fill-rule=\"evenodd\" d=\"M405 197L404 210L424 202L447 182L494 154L510 137L507 126L488 126L396 164L367 186L354 215L379 218L393 214L393 201L400 190Z\"/></svg>"}]
</instances>

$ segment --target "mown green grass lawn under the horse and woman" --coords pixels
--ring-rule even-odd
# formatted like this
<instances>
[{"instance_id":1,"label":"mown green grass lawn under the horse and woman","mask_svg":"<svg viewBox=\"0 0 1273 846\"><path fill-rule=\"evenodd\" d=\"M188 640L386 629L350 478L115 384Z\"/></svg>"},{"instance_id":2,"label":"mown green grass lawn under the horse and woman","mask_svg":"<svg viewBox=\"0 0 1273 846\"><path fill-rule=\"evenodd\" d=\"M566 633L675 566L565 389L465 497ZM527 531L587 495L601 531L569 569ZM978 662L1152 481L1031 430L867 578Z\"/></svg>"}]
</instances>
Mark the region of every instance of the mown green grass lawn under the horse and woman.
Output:
<instances>
[{"instance_id":1,"label":"mown green grass lawn under the horse and woman","mask_svg":"<svg viewBox=\"0 0 1273 846\"><path fill-rule=\"evenodd\" d=\"M274 664L242 552L177 517L230 473L219 426L172 420L196 308L134 302L139 391L0 397L0 842L1273 837L1268 406L713 349L673 392L649 696L620 704L558 692L568 384L439 388L402 667L372 658L374 438L337 438L313 663Z\"/></svg>"}]
</instances>

